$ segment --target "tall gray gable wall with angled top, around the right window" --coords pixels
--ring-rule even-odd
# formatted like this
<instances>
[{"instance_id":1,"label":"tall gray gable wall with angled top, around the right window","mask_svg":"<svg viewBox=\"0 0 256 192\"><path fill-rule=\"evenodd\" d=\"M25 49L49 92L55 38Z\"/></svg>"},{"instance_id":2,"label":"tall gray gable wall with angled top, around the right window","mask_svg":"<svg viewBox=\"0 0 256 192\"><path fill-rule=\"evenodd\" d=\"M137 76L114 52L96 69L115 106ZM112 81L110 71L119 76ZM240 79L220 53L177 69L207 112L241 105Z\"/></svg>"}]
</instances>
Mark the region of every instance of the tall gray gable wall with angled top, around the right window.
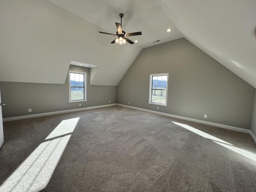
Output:
<instances>
[{"instance_id":1,"label":"tall gray gable wall with angled top, around the right window","mask_svg":"<svg viewBox=\"0 0 256 192\"><path fill-rule=\"evenodd\" d=\"M167 106L148 104L149 75L169 73ZM144 48L117 88L119 104L250 129L255 88L185 38ZM207 118L204 118L207 114Z\"/></svg>"}]
</instances>

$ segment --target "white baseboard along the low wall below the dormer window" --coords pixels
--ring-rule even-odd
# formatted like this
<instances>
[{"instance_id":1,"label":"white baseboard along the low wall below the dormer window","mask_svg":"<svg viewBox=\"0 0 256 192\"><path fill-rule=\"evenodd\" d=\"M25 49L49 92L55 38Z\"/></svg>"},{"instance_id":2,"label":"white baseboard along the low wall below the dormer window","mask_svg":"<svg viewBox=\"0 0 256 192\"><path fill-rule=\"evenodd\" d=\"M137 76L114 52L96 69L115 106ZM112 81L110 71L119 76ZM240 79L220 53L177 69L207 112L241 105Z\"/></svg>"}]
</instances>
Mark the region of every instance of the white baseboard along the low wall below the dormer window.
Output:
<instances>
[{"instance_id":1,"label":"white baseboard along the low wall below the dormer window","mask_svg":"<svg viewBox=\"0 0 256 192\"><path fill-rule=\"evenodd\" d=\"M15 121L15 120L20 120L20 119L29 119L29 118L34 118L34 117L49 116L49 115L56 115L56 114L62 114L62 113L70 113L70 112L76 112L76 111L84 111L84 110L97 109L97 108L110 107L110 106L116 106L116 104L99 105L99 106L92 106L92 107L85 107L85 108L78 108L78 109L69 109L69 110L63 110L63 111L54 111L54 112L47 112L47 113L39 113L39 114L32 114L32 115L24 115L24 116L17 116L17 117L8 117L8 118L3 118L3 122Z\"/></svg>"}]
</instances>

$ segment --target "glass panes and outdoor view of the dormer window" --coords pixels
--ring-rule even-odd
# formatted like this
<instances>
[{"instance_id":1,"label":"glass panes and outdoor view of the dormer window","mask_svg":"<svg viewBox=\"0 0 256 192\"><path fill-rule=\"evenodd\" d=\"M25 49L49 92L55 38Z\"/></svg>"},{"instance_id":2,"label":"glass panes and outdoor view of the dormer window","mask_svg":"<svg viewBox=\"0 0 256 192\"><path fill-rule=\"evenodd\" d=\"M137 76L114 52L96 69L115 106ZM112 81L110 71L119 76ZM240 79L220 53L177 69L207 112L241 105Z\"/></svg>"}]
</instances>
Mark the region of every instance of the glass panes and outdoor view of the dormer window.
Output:
<instances>
[{"instance_id":1,"label":"glass panes and outdoor view of the dormer window","mask_svg":"<svg viewBox=\"0 0 256 192\"><path fill-rule=\"evenodd\" d=\"M70 100L84 100L84 74L70 73Z\"/></svg>"}]
</instances>

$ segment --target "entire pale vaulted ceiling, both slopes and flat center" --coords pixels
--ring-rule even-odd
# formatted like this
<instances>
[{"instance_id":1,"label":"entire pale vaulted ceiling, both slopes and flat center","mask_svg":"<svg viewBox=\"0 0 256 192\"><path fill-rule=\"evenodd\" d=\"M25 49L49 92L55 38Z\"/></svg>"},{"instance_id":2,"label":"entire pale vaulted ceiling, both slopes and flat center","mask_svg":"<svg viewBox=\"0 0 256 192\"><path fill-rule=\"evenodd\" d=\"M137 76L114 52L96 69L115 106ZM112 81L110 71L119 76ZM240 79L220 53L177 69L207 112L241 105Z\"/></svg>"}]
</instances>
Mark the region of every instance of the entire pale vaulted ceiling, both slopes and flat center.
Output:
<instances>
[{"instance_id":1,"label":"entire pale vaulted ceiling, both slopes and flat center","mask_svg":"<svg viewBox=\"0 0 256 192\"><path fill-rule=\"evenodd\" d=\"M115 34L119 13L137 43L99 33ZM0 81L63 84L74 61L117 85L142 48L184 37L256 88L255 20L255 0L1 0Z\"/></svg>"}]
</instances>

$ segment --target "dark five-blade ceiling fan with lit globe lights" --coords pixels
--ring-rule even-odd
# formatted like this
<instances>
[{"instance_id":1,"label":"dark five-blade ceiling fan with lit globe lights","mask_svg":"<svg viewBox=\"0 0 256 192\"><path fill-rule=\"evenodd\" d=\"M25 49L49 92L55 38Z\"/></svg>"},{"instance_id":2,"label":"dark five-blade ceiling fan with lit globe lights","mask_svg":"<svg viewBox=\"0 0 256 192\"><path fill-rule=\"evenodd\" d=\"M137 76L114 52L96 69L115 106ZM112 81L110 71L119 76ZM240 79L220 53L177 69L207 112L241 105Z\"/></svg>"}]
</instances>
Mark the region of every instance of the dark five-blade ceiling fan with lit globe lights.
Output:
<instances>
[{"instance_id":1,"label":"dark five-blade ceiling fan with lit globe lights","mask_svg":"<svg viewBox=\"0 0 256 192\"><path fill-rule=\"evenodd\" d=\"M105 33L105 32L101 32L101 31L100 31L100 33L117 36L117 38L115 40L113 40L111 43L116 42L119 45L122 45L122 44L128 42L130 44L134 44L134 42L132 42L130 39L128 39L126 37L141 35L142 33L141 32L134 32L134 33L127 33L126 34L125 31L122 30L122 17L124 16L124 14L120 13L119 16L121 18L121 23L116 23L116 28L117 28L116 34Z\"/></svg>"}]
</instances>

